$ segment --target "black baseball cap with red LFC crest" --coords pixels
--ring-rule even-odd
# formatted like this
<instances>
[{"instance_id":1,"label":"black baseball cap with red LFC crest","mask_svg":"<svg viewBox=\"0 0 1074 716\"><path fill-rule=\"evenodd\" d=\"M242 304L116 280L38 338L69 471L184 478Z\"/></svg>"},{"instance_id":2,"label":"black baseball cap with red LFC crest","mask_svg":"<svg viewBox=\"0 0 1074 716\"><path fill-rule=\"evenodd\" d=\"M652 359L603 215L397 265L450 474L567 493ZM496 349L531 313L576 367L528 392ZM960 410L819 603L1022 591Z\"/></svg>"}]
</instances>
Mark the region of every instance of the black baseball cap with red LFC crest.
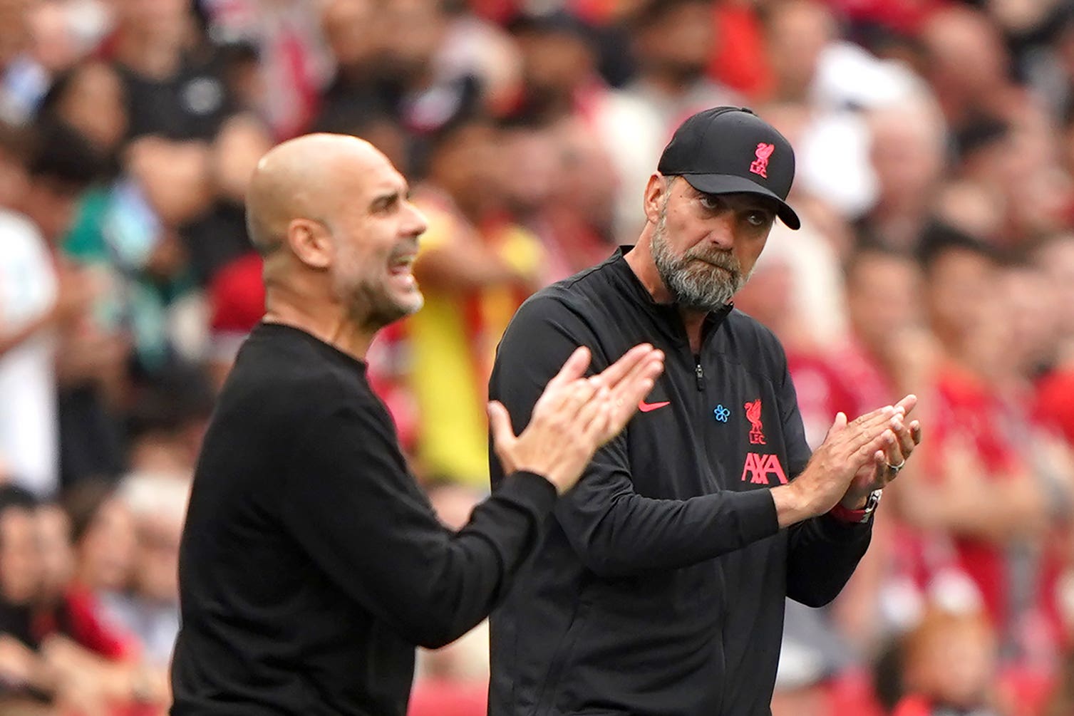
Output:
<instances>
[{"instance_id":1,"label":"black baseball cap with red LFC crest","mask_svg":"<svg viewBox=\"0 0 1074 716\"><path fill-rule=\"evenodd\" d=\"M768 196L778 203L775 214L783 223L801 227L786 202L795 151L785 136L745 107L712 107L688 117L664 147L656 169L707 194Z\"/></svg>"}]
</instances>

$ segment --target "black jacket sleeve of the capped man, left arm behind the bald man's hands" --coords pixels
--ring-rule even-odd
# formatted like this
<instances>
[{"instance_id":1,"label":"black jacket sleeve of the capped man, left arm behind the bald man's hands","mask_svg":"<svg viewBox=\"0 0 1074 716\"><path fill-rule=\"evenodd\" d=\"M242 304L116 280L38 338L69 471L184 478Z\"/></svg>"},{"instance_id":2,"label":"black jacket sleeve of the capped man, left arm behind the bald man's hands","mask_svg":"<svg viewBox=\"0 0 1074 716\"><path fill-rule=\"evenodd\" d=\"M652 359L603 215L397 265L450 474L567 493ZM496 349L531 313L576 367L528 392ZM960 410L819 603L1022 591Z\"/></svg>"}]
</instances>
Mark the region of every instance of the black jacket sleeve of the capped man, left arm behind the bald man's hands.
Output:
<instances>
[{"instance_id":1,"label":"black jacket sleeve of the capped man, left arm behind the bald man's hands","mask_svg":"<svg viewBox=\"0 0 1074 716\"><path fill-rule=\"evenodd\" d=\"M548 381L583 345L593 353L593 371L603 370L609 359L628 348L599 345L585 322L552 296L523 305L500 341L490 382L490 396L508 409L516 432L525 427ZM491 473L496 486L502 470L494 453ZM766 489L686 500L637 494L625 434L597 452L553 514L581 561L604 578L685 567L779 530L775 505Z\"/></svg>"}]
</instances>

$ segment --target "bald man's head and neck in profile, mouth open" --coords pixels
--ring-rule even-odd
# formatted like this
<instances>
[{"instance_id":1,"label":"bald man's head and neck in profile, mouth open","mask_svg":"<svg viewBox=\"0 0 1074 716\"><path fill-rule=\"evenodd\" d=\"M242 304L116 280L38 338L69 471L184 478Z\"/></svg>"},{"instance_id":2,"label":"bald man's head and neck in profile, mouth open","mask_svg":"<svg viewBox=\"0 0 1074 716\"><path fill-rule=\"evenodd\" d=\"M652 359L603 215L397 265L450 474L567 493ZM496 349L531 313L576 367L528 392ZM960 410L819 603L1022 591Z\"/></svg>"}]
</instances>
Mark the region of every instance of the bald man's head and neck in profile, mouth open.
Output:
<instances>
[{"instance_id":1,"label":"bald man's head and neck in profile, mouth open","mask_svg":"<svg viewBox=\"0 0 1074 716\"><path fill-rule=\"evenodd\" d=\"M410 267L425 218L364 140L308 134L270 150L250 178L246 225L265 258L268 320L364 340L421 308Z\"/></svg>"}]
</instances>

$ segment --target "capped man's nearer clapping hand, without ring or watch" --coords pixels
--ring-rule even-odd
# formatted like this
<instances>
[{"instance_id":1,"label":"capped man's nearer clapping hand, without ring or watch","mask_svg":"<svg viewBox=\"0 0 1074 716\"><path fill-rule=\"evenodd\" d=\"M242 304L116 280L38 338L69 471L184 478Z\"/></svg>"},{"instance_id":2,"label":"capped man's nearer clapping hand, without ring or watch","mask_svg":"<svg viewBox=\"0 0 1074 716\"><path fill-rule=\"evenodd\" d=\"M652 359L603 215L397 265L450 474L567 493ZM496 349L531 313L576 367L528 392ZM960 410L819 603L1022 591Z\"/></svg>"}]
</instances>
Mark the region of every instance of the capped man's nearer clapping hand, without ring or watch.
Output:
<instances>
[{"instance_id":1,"label":"capped man's nearer clapping hand, without ring or watch","mask_svg":"<svg viewBox=\"0 0 1074 716\"><path fill-rule=\"evenodd\" d=\"M846 493L859 469L875 459L877 451L896 443L903 412L892 406L877 408L850 424L839 413L824 442L793 482L772 488L780 527L824 514Z\"/></svg>"}]
</instances>

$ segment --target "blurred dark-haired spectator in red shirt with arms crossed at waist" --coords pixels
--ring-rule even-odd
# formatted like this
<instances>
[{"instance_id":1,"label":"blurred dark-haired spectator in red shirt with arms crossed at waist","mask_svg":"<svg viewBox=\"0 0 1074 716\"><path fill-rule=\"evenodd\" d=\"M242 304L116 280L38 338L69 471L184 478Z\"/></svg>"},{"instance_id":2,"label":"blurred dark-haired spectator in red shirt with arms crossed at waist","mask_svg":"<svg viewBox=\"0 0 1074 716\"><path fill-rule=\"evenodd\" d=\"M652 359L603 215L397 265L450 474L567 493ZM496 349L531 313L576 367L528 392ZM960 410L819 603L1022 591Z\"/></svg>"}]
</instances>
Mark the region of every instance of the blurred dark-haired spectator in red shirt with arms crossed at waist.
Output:
<instances>
[{"instance_id":1,"label":"blurred dark-haired spectator in red shirt with arms crossed at waist","mask_svg":"<svg viewBox=\"0 0 1074 716\"><path fill-rule=\"evenodd\" d=\"M1022 443L1032 427L1003 398L1014 349L1004 333L1010 322L997 320L1006 302L995 253L938 227L926 236L921 259L942 362L926 458L900 485L903 514L923 530L911 569L933 598L976 601L1004 645L1019 654L1041 573L1015 554L1040 547L1070 488L1056 483L1053 489L1034 473Z\"/></svg>"}]
</instances>

